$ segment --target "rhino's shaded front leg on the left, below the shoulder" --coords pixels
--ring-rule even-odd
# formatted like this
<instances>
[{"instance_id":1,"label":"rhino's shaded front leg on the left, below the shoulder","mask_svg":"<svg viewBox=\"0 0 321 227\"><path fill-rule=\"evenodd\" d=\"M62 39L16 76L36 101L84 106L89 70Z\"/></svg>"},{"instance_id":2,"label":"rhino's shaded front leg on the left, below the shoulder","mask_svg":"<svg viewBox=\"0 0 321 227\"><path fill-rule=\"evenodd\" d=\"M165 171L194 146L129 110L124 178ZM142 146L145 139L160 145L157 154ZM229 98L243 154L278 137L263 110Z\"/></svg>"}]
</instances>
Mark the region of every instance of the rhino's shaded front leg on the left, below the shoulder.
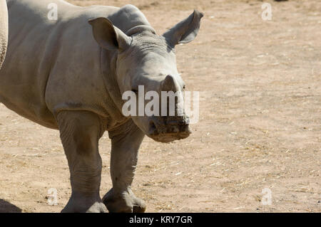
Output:
<instances>
[{"instance_id":1,"label":"rhino's shaded front leg on the left, below the shoulder","mask_svg":"<svg viewBox=\"0 0 321 227\"><path fill-rule=\"evenodd\" d=\"M107 212L99 195L102 167L98 153L99 117L87 111L62 111L57 120L72 190L61 212Z\"/></svg>"}]
</instances>

